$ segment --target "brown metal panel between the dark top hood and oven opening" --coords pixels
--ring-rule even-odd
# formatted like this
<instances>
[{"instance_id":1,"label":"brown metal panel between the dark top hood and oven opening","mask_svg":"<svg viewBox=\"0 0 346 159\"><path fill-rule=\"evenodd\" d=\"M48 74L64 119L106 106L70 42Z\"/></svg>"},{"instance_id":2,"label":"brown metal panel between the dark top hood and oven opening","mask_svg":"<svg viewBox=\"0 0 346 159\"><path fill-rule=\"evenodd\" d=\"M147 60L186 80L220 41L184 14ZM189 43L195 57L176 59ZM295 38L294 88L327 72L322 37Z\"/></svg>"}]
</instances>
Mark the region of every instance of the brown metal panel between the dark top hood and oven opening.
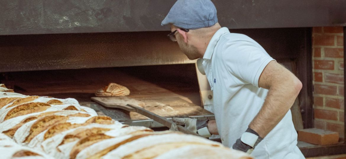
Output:
<instances>
[{"instance_id":1,"label":"brown metal panel between the dark top hood and oven opening","mask_svg":"<svg viewBox=\"0 0 346 159\"><path fill-rule=\"evenodd\" d=\"M275 59L297 58L305 28L240 29ZM194 63L167 31L2 35L0 72Z\"/></svg>"}]
</instances>

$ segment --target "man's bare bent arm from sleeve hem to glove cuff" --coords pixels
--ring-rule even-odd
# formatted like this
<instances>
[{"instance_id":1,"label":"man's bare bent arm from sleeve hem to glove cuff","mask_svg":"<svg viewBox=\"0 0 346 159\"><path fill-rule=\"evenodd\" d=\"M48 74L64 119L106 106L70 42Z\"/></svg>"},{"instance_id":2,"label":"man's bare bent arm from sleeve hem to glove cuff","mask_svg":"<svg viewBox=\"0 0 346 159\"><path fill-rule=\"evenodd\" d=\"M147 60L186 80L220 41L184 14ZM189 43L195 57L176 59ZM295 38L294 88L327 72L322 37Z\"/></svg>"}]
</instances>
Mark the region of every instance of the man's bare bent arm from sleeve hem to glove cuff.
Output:
<instances>
[{"instance_id":1,"label":"man's bare bent arm from sleeve hem to glove cuff","mask_svg":"<svg viewBox=\"0 0 346 159\"><path fill-rule=\"evenodd\" d=\"M302 83L285 67L271 61L264 68L258 86L269 91L260 112L252 120L249 128L264 138L291 108Z\"/></svg>"}]
</instances>

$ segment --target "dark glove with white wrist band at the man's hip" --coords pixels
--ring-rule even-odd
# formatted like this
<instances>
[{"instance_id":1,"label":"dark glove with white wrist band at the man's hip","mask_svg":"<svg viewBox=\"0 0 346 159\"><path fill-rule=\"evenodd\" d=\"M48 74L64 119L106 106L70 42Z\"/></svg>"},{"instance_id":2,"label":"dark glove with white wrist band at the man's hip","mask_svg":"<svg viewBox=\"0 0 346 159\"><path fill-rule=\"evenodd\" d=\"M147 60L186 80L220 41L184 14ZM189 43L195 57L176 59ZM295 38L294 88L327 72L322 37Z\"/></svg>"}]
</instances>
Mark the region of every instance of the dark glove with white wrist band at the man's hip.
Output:
<instances>
[{"instance_id":1,"label":"dark glove with white wrist band at the man's hip","mask_svg":"<svg viewBox=\"0 0 346 159\"><path fill-rule=\"evenodd\" d=\"M263 138L260 137L260 135L258 135L255 130L247 128L242 137L240 137L240 139L237 139L232 148L250 154L254 150L256 145L262 140Z\"/></svg>"}]
</instances>

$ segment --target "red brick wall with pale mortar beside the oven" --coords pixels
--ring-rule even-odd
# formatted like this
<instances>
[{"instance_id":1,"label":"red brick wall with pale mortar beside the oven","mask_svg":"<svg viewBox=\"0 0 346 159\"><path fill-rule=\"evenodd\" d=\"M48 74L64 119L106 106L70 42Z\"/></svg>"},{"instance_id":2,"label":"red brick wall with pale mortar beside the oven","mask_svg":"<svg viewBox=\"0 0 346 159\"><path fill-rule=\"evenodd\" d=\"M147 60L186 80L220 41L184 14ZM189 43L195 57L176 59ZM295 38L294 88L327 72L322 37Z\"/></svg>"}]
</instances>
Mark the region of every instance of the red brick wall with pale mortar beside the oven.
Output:
<instances>
[{"instance_id":1,"label":"red brick wall with pale mortar beside the oven","mask_svg":"<svg viewBox=\"0 0 346 159\"><path fill-rule=\"evenodd\" d=\"M312 30L312 72L315 127L344 138L343 27Z\"/></svg>"}]
</instances>

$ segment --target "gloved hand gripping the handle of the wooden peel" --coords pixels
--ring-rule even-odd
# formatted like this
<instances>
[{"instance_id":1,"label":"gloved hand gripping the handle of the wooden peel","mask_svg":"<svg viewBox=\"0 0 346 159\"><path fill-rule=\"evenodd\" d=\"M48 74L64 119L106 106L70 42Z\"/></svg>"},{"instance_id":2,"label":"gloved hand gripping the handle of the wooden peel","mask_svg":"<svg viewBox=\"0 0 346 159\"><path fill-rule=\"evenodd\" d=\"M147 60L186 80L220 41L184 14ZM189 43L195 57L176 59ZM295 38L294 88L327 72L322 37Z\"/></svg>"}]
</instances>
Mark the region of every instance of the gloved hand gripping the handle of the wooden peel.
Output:
<instances>
[{"instance_id":1,"label":"gloved hand gripping the handle of the wooden peel","mask_svg":"<svg viewBox=\"0 0 346 159\"><path fill-rule=\"evenodd\" d=\"M203 137L210 137L211 134L207 128L208 120L197 120L196 118L176 118L173 117L172 120L177 125L185 125L186 129L192 132L196 132Z\"/></svg>"}]
</instances>

